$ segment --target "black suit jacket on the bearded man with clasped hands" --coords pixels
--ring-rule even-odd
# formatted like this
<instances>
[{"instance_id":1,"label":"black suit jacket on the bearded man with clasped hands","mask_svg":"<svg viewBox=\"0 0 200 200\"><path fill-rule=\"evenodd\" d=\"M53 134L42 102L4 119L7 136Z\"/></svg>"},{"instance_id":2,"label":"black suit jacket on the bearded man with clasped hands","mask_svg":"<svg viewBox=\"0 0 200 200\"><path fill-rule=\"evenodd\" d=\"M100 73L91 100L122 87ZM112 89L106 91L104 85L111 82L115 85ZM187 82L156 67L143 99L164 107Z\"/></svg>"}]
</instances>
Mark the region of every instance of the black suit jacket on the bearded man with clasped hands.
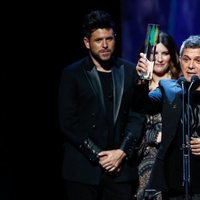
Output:
<instances>
[{"instance_id":1,"label":"black suit jacket on the bearded man with clasped hands","mask_svg":"<svg viewBox=\"0 0 200 200\"><path fill-rule=\"evenodd\" d=\"M113 59L114 145L127 153L116 181L137 178L132 159L144 117L130 111L133 104L135 68ZM102 169L94 159L96 149L106 150L108 127L101 82L89 57L63 70L59 96L60 126L65 135L63 176L67 180L98 184ZM86 143L85 149L85 141ZM92 142L92 144L91 144ZM93 155L94 154L94 155Z\"/></svg>"}]
</instances>

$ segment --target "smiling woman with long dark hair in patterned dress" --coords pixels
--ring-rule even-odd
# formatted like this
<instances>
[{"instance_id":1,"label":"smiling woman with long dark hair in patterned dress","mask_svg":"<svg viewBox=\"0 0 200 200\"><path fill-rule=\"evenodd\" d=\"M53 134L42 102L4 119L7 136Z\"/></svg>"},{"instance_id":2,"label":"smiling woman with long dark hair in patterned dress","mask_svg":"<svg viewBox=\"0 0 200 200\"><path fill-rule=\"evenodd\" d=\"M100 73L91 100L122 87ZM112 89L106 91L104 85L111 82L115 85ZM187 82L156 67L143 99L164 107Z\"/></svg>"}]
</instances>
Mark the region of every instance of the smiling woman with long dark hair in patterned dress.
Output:
<instances>
[{"instance_id":1,"label":"smiling woman with long dark hair in patterned dress","mask_svg":"<svg viewBox=\"0 0 200 200\"><path fill-rule=\"evenodd\" d=\"M143 55L143 53L140 55ZM140 64L140 59L138 65ZM177 79L180 75L178 49L169 34L162 31L159 32L155 52L150 55L150 61L153 59L154 68L152 79L149 81L149 91L154 90L161 79ZM160 113L146 115L144 134L139 148L139 187L134 196L137 200L145 198L145 192L147 192L145 188L162 138L161 129L162 119ZM154 195L154 199L161 199L159 191Z\"/></svg>"}]
</instances>

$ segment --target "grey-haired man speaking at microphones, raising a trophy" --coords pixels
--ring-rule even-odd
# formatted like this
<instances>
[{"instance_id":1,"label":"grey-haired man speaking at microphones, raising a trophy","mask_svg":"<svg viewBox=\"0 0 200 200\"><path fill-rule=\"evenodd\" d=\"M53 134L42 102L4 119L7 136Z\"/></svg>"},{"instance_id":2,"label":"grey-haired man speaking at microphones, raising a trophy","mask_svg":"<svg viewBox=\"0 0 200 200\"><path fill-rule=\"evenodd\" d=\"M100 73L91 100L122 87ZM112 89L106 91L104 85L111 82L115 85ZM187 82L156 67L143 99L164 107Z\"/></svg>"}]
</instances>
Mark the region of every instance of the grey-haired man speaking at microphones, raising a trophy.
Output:
<instances>
[{"instance_id":1,"label":"grey-haired man speaking at microphones, raising a trophy","mask_svg":"<svg viewBox=\"0 0 200 200\"><path fill-rule=\"evenodd\" d=\"M148 61L140 55L137 72ZM139 80L138 109L162 113L162 141L147 190L162 191L167 200L200 199L200 35L192 35L180 48L182 77L161 80L148 93L148 81ZM186 158L186 159L185 159Z\"/></svg>"}]
</instances>

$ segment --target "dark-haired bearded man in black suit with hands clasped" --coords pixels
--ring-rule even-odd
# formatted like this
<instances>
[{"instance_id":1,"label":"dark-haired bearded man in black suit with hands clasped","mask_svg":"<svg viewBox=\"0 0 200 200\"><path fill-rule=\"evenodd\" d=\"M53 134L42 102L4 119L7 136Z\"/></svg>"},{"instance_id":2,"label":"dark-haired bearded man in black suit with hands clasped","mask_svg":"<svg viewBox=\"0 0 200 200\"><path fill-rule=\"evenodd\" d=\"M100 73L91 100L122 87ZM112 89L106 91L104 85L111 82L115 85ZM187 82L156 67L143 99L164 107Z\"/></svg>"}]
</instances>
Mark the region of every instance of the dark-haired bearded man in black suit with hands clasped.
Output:
<instances>
[{"instance_id":1,"label":"dark-haired bearded man in black suit with hands clasped","mask_svg":"<svg viewBox=\"0 0 200 200\"><path fill-rule=\"evenodd\" d=\"M134 64L113 56L115 37L111 16L90 12L83 23L89 56L62 74L66 200L131 200L136 189L134 149L144 117L133 112Z\"/></svg>"}]
</instances>

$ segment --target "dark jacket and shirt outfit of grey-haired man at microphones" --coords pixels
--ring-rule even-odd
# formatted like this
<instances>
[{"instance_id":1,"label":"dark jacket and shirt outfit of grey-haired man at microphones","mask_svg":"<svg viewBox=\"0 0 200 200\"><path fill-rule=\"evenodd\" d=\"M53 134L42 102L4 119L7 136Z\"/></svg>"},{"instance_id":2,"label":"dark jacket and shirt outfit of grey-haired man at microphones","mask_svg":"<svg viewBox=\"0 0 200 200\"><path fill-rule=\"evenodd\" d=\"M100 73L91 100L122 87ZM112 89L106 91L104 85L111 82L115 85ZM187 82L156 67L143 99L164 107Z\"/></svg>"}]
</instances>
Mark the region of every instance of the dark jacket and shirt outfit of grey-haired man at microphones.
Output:
<instances>
[{"instance_id":1,"label":"dark jacket and shirt outfit of grey-haired man at microphones","mask_svg":"<svg viewBox=\"0 0 200 200\"><path fill-rule=\"evenodd\" d=\"M139 86L143 91L140 105L149 113L162 111L162 142L152 169L148 188L167 192L167 196L184 196L182 156L182 88L175 80L161 80L159 88L148 95L148 86ZM150 100L150 101L149 101ZM185 102L187 104L187 102ZM200 92L191 93L191 136L200 137ZM187 122L187 112L185 113ZM187 127L187 125L186 125ZM185 128L186 128L185 127ZM187 129L185 130L187 133ZM200 157L191 154L190 192L200 194ZM198 198L198 197L197 197Z\"/></svg>"}]
</instances>

